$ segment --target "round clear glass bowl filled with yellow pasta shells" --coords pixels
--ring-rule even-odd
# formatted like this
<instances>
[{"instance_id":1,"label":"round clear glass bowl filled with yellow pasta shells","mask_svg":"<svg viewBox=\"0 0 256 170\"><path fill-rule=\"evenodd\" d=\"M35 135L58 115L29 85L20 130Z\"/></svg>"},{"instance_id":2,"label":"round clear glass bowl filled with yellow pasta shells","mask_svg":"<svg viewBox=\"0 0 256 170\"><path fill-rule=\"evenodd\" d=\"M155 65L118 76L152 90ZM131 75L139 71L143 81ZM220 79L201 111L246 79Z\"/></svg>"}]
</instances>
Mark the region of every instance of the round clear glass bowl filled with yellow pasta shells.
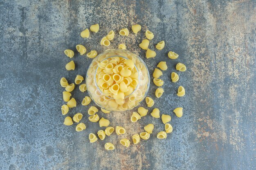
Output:
<instances>
[{"instance_id":1,"label":"round clear glass bowl filled with yellow pasta shells","mask_svg":"<svg viewBox=\"0 0 256 170\"><path fill-rule=\"evenodd\" d=\"M150 85L146 64L124 49L111 49L97 55L85 81L92 100L109 111L134 108L146 97Z\"/></svg>"}]
</instances>

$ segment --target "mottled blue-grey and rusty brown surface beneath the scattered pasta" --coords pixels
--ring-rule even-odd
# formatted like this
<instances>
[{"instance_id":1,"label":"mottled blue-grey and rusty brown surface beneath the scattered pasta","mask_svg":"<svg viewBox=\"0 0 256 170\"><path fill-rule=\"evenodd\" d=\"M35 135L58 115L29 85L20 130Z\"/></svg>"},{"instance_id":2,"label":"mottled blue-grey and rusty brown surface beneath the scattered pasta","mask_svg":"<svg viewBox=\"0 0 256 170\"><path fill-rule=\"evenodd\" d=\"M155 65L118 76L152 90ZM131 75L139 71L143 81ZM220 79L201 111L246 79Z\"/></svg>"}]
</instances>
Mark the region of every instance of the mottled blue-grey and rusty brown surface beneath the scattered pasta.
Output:
<instances>
[{"instance_id":1,"label":"mottled blue-grey and rusty brown surface beneath the scattered pasta","mask_svg":"<svg viewBox=\"0 0 256 170\"><path fill-rule=\"evenodd\" d=\"M99 33L83 39L80 32L99 23ZM78 106L68 115L83 113L87 126L76 132L75 125L64 126L61 114L61 77L73 82L85 76L91 59L75 52L76 69L66 71L70 61L63 51L84 44L88 51L102 52L100 39L111 29L117 31L141 24L142 31L128 37L115 36L108 48L125 43L140 55L150 74L159 61L168 63L164 71L164 95L156 99L152 84L148 96L154 107L172 116L173 133L166 140L156 138L164 130L160 119L150 115L130 122L130 110L99 115L112 126L124 126L123 136L111 135L90 144L88 134L96 133L97 123L88 121L89 106L81 106L87 92L78 88L72 95ZM150 29L166 47L155 59L146 59L138 44ZM2 170L253 170L256 169L256 2L254 0L124 0L0 1L0 169ZM168 51L180 55L167 57ZM187 71L172 83L175 64ZM177 97L178 86L186 95ZM93 103L90 106L94 105ZM143 102L140 106L146 106ZM177 118L172 110L184 108ZM153 108L149 108L150 112ZM123 137L131 137L153 123L155 130L147 141L124 148ZM116 149L106 151L106 142Z\"/></svg>"}]
</instances>

